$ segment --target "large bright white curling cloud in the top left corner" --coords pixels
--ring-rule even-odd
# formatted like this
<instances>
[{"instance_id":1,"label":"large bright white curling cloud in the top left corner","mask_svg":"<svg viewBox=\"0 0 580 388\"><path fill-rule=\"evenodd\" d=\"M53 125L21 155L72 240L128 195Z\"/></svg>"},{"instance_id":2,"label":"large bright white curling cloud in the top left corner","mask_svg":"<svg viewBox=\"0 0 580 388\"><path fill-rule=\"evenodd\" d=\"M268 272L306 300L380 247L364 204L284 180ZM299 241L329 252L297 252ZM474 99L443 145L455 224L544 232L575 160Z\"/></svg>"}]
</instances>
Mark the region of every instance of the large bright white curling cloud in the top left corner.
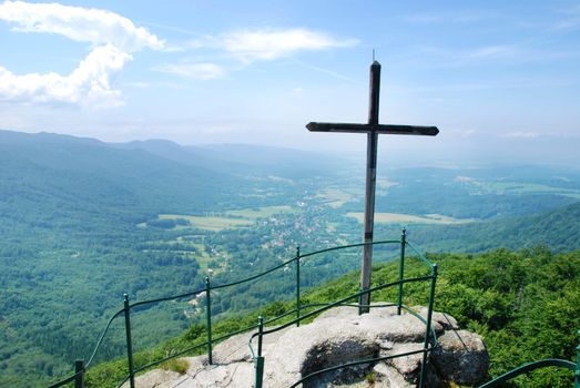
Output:
<instances>
[{"instance_id":1,"label":"large bright white curling cloud in the top left corner","mask_svg":"<svg viewBox=\"0 0 580 388\"><path fill-rule=\"evenodd\" d=\"M110 75L133 59L131 53L164 47L144 28L105 10L6 1L0 4L0 20L16 23L18 32L54 33L92 45L68 75L14 74L0 65L0 99L8 101L118 106L122 103L120 92L111 86Z\"/></svg>"}]
</instances>

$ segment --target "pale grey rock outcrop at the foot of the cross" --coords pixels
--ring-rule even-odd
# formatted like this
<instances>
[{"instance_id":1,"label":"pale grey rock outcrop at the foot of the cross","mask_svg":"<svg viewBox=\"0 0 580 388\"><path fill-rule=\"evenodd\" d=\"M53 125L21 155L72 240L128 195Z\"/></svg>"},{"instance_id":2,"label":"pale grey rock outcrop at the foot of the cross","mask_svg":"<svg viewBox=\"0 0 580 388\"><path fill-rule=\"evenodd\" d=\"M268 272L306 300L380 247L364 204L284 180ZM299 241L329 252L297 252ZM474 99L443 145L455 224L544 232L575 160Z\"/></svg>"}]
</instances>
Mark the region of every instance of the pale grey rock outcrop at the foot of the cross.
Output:
<instances>
[{"instance_id":1,"label":"pale grey rock outcrop at the foot of the cross","mask_svg":"<svg viewBox=\"0 0 580 388\"><path fill-rule=\"evenodd\" d=\"M425 316L427 309L415 309ZM434 313L433 328L438 347L426 368L429 387L454 381L478 385L487 376L489 357L478 335L460 330L444 313ZM215 346L214 365L206 356L186 357L184 375L153 370L136 378L144 387L240 387L254 386L254 365L247 346L250 335L234 336ZM289 387L301 378L324 368L349 361L409 354L386 361L368 363L326 372L304 381L314 387L416 387L423 364L425 325L414 315L397 315L395 307L373 308L359 316L353 307L330 309L312 324L288 327L264 337L264 384L266 388ZM255 343L255 341L254 341ZM254 344L254 348L255 348Z\"/></svg>"}]
</instances>

